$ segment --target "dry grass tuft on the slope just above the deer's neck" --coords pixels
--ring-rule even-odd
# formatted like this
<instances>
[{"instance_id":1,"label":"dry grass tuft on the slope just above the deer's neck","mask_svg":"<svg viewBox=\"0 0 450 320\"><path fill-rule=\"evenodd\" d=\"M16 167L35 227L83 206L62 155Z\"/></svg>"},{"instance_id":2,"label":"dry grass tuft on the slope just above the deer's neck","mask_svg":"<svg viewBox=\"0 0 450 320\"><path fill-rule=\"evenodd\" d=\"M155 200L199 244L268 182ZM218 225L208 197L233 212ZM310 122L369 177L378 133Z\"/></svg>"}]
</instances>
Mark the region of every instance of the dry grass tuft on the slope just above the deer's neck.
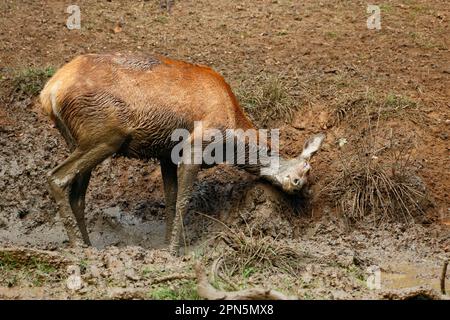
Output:
<instances>
[{"instance_id":1,"label":"dry grass tuft on the slope just above the deer's neck","mask_svg":"<svg viewBox=\"0 0 450 320\"><path fill-rule=\"evenodd\" d=\"M288 85L275 76L262 76L254 82L243 82L237 90L238 99L250 117L262 127L271 121L290 121L298 109L289 94Z\"/></svg>"}]
</instances>

